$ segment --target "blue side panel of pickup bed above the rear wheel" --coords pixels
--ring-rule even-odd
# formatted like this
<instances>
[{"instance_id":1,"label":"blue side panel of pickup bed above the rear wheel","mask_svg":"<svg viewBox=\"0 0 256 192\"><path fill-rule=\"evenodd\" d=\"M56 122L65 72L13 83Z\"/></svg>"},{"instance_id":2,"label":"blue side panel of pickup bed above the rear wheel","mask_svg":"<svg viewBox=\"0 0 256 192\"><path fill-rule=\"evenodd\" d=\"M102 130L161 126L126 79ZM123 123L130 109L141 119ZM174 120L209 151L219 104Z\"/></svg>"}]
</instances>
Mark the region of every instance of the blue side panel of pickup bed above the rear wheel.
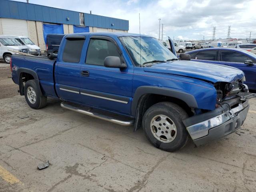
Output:
<instances>
[{"instance_id":1,"label":"blue side panel of pickup bed above the rear wheel","mask_svg":"<svg viewBox=\"0 0 256 192\"><path fill-rule=\"evenodd\" d=\"M19 84L20 74L34 71L38 77L42 92L47 96L57 97L54 85L54 66L56 60L47 56L12 55L13 80Z\"/></svg>"}]
</instances>

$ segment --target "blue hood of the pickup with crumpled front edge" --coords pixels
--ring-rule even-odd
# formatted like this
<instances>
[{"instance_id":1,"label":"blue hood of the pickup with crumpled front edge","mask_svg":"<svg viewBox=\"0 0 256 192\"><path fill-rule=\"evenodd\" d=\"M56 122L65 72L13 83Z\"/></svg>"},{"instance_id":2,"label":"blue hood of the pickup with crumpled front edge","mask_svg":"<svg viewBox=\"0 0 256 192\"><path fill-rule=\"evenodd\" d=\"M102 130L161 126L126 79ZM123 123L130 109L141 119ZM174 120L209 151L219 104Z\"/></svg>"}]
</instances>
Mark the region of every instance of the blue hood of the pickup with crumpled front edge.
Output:
<instances>
[{"instance_id":1,"label":"blue hood of the pickup with crumpled front edge","mask_svg":"<svg viewBox=\"0 0 256 192\"><path fill-rule=\"evenodd\" d=\"M144 67L144 71L186 76L213 83L219 81L232 83L244 77L244 73L234 67L187 60L154 64L151 67Z\"/></svg>"}]
</instances>

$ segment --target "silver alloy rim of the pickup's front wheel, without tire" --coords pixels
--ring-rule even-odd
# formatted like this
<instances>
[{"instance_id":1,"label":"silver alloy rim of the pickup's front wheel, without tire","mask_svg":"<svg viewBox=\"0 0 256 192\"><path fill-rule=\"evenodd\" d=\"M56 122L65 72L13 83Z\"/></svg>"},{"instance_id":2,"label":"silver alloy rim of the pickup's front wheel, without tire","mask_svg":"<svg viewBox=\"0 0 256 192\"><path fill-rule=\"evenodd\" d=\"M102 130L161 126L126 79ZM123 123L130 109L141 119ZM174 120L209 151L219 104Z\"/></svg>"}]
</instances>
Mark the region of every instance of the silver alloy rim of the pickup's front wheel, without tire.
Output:
<instances>
[{"instance_id":1,"label":"silver alloy rim of the pickup's front wheel, without tire","mask_svg":"<svg viewBox=\"0 0 256 192\"><path fill-rule=\"evenodd\" d=\"M150 130L153 136L164 143L172 142L177 135L176 125L166 115L156 115L150 122Z\"/></svg>"}]
</instances>

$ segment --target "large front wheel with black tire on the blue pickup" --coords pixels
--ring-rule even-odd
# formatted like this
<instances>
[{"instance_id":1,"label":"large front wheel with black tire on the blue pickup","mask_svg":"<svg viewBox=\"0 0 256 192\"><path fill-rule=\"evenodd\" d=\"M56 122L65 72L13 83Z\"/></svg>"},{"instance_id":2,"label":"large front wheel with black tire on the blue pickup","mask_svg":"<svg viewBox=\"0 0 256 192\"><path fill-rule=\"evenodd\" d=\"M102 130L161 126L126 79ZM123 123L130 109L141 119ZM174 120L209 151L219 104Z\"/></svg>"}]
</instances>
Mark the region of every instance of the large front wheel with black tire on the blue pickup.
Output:
<instances>
[{"instance_id":1,"label":"large front wheel with black tire on the blue pickup","mask_svg":"<svg viewBox=\"0 0 256 192\"><path fill-rule=\"evenodd\" d=\"M158 116L161 116L160 120ZM166 122L164 121L164 118L162 118L164 116L170 120L166 124L163 123ZM181 149L188 141L188 132L182 123L182 120L186 118L188 118L188 114L177 104L171 102L160 102L146 110L142 120L143 131L153 146L168 152L173 152ZM163 121L161 122L161 120ZM157 122L156 125L159 127L154 125L152 126L152 124L154 124L152 122ZM158 122L161 122L162 124L158 124ZM170 122L172 122L172 125L170 125ZM168 128L168 125L176 127L176 131L172 130L171 127ZM172 136L169 140L167 132ZM158 137L157 134L162 135Z\"/></svg>"}]
</instances>

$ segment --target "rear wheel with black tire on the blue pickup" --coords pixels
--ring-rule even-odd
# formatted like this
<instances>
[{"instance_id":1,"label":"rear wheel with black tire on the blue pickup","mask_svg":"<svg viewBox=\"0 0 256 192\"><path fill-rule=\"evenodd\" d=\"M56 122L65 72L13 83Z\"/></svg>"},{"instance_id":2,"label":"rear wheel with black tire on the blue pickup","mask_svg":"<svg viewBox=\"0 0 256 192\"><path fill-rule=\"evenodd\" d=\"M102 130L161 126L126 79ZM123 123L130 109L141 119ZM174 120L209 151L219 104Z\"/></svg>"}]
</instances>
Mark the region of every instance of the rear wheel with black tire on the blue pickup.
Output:
<instances>
[{"instance_id":1,"label":"rear wheel with black tire on the blue pickup","mask_svg":"<svg viewBox=\"0 0 256 192\"><path fill-rule=\"evenodd\" d=\"M40 109L46 106L47 97L42 94L35 80L28 80L25 83L24 95L31 108Z\"/></svg>"}]
</instances>

